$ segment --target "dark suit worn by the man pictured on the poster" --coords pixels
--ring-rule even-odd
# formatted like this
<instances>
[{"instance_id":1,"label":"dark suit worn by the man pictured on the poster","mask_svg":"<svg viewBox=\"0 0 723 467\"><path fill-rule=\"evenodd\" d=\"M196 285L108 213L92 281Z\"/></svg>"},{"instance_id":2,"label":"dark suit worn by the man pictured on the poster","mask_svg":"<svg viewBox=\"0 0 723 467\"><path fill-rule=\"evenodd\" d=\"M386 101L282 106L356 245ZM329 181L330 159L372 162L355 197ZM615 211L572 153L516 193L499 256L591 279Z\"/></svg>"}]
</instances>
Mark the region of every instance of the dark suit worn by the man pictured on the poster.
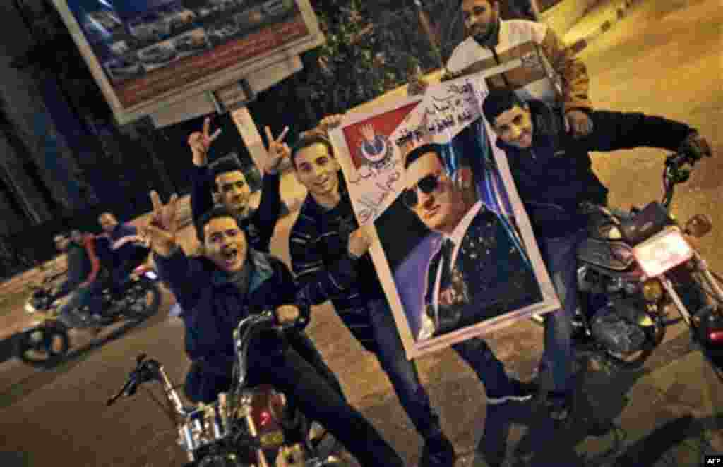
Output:
<instances>
[{"instance_id":1,"label":"dark suit worn by the man pictured on the poster","mask_svg":"<svg viewBox=\"0 0 723 467\"><path fill-rule=\"evenodd\" d=\"M534 271L500 217L482 202L471 207L429 263L426 311L434 335L488 320L542 300ZM447 265L445 265L445 258ZM420 338L429 337L424 330Z\"/></svg>"}]
</instances>

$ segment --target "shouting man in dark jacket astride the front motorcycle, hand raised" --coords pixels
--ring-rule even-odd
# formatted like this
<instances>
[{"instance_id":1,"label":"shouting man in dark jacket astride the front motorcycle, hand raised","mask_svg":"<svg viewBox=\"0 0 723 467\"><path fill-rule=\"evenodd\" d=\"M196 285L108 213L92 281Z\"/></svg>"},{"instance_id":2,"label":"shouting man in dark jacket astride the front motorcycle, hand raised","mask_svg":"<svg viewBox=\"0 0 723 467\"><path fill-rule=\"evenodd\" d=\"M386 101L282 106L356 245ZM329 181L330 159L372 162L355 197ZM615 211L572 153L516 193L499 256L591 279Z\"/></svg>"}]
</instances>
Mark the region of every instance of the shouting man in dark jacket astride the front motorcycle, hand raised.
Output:
<instances>
[{"instance_id":1,"label":"shouting man in dark jacket astride the front motorcycle, hand raised","mask_svg":"<svg viewBox=\"0 0 723 467\"><path fill-rule=\"evenodd\" d=\"M236 357L233 333L249 314L273 310L279 322L307 322L309 310L295 302L296 291L286 265L249 248L247 235L223 207L202 216L204 254L189 258L176 244L176 197L161 205L151 193L153 220L146 228L159 273L181 304L186 350L194 361L186 392L210 401L231 387ZM286 393L309 418L325 425L365 467L403 466L401 458L328 379L307 359L301 330L286 331L289 346L275 335L257 338L249 356L249 374ZM300 350L301 349L301 350ZM312 346L312 350L315 350Z\"/></svg>"}]
</instances>

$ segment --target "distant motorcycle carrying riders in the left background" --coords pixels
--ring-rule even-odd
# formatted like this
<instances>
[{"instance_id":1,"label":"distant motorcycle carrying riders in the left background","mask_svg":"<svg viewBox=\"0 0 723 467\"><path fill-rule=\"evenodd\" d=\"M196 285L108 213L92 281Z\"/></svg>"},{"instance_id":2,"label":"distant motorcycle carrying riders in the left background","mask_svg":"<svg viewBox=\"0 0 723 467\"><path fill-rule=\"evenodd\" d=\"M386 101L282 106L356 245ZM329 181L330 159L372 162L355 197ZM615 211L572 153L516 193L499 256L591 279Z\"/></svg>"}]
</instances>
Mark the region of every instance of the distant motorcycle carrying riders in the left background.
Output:
<instances>
[{"instance_id":1,"label":"distant motorcycle carrying riders in the left background","mask_svg":"<svg viewBox=\"0 0 723 467\"><path fill-rule=\"evenodd\" d=\"M25 327L15 338L15 355L25 364L34 367L53 367L59 364L70 348L69 327L59 320L59 310L70 295L52 300L50 284L59 275L43 278L41 286L33 286L33 295L25 302L25 312L38 316L38 320ZM120 320L142 321L158 312L161 305L161 289L158 274L150 265L140 265L130 274L123 299L111 298L109 288L103 290L101 320L87 318L87 309L72 310L82 318L80 328L91 328L96 333Z\"/></svg>"}]
</instances>

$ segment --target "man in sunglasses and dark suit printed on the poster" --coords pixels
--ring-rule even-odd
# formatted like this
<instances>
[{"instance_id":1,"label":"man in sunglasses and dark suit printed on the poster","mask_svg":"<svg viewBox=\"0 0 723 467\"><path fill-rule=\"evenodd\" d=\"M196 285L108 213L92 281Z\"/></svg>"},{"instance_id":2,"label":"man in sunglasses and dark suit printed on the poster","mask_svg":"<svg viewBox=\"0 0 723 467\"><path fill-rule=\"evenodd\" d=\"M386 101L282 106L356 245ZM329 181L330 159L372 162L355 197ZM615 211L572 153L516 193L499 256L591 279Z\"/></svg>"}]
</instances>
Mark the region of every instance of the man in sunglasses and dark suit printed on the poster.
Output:
<instances>
[{"instance_id":1,"label":"man in sunglasses and dark suit printed on the poster","mask_svg":"<svg viewBox=\"0 0 723 467\"><path fill-rule=\"evenodd\" d=\"M419 338L474 325L542 299L525 254L500 215L465 196L445 167L444 148L416 147L406 155L402 200L444 241L427 266L424 303L431 319Z\"/></svg>"}]
</instances>

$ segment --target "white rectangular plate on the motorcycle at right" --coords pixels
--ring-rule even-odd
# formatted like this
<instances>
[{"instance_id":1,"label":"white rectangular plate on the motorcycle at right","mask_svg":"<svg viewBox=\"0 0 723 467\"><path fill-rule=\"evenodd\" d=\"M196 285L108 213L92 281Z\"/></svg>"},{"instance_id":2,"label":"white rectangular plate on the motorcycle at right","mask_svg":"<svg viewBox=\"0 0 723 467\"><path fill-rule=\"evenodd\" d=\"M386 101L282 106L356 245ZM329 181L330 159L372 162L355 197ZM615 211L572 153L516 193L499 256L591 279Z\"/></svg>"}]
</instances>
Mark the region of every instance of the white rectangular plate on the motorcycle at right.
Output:
<instances>
[{"instance_id":1,"label":"white rectangular plate on the motorcycle at right","mask_svg":"<svg viewBox=\"0 0 723 467\"><path fill-rule=\"evenodd\" d=\"M667 273L673 267L693 257L690 247L680 229L671 226L643 241L633 249L638 265L649 278Z\"/></svg>"}]
</instances>

